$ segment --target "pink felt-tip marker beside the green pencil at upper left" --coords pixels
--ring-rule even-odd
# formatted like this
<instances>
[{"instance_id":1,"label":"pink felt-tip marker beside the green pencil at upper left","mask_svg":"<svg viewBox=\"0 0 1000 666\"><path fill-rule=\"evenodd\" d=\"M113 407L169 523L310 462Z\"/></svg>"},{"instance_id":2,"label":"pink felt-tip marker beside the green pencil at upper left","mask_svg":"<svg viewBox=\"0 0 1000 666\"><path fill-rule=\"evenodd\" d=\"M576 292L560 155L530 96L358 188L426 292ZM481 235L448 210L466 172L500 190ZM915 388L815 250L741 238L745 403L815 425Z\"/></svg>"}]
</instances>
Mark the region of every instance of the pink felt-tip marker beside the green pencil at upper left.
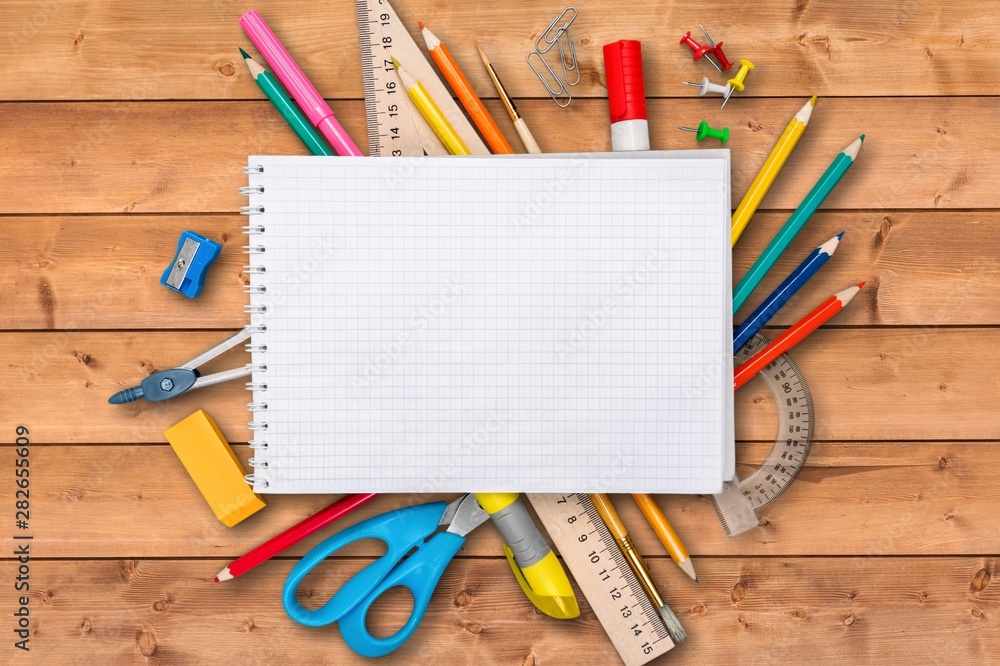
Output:
<instances>
[{"instance_id":1,"label":"pink felt-tip marker beside the green pencil at upper left","mask_svg":"<svg viewBox=\"0 0 1000 666\"><path fill-rule=\"evenodd\" d=\"M337 154L361 155L361 150L333 116L333 109L319 94L316 87L309 82L299 66L295 64L292 56L281 45L257 10L251 9L241 16L240 25L243 27L243 32L247 33L250 41L271 65L274 73L288 89L288 92L299 103L302 112L309 118L309 122L326 137Z\"/></svg>"}]
</instances>

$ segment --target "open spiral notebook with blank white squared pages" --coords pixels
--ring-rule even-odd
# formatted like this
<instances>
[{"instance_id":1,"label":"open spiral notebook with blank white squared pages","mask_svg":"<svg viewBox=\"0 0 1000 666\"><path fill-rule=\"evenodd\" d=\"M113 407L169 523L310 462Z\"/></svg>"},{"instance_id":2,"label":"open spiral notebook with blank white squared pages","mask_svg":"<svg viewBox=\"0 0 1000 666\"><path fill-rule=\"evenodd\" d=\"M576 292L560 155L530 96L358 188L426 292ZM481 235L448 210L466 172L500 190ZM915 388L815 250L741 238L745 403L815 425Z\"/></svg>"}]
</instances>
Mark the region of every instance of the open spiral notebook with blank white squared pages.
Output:
<instances>
[{"instance_id":1,"label":"open spiral notebook with blank white squared pages","mask_svg":"<svg viewBox=\"0 0 1000 666\"><path fill-rule=\"evenodd\" d=\"M252 156L268 493L713 493L729 151Z\"/></svg>"}]
</instances>

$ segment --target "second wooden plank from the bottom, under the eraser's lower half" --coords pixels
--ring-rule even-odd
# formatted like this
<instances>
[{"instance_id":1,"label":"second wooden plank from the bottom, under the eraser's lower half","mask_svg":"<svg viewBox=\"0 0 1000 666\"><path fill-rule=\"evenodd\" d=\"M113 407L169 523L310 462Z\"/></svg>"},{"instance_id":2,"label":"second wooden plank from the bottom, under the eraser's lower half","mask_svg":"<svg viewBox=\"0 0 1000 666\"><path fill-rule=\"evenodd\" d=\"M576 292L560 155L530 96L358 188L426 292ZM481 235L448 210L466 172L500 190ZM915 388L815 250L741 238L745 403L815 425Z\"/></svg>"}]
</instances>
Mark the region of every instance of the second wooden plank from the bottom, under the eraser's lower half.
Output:
<instances>
[{"instance_id":1,"label":"second wooden plank from the bottom, under the eraser's lower half","mask_svg":"<svg viewBox=\"0 0 1000 666\"><path fill-rule=\"evenodd\" d=\"M251 455L246 446L234 448L243 461ZM766 450L763 444L740 446L740 473L762 460ZM4 469L14 468L14 457L13 447L0 447ZM32 552L37 557L231 560L335 499L267 495L266 509L227 528L167 446L35 446L30 462L29 533L35 537ZM1000 552L998 466L1000 450L993 443L820 442L792 488L762 512L766 524L737 539L726 537L707 497L659 499L699 571L703 558L720 555L976 555ZM13 506L14 491L8 484L0 500ZM285 555L302 556L364 518L453 498L380 497ZM663 557L663 547L631 498L615 496L614 502L640 551ZM822 538L817 538L816 525L822 525ZM366 542L344 555L378 552L378 546ZM499 556L499 533L491 526L477 530L463 554Z\"/></svg>"}]
</instances>

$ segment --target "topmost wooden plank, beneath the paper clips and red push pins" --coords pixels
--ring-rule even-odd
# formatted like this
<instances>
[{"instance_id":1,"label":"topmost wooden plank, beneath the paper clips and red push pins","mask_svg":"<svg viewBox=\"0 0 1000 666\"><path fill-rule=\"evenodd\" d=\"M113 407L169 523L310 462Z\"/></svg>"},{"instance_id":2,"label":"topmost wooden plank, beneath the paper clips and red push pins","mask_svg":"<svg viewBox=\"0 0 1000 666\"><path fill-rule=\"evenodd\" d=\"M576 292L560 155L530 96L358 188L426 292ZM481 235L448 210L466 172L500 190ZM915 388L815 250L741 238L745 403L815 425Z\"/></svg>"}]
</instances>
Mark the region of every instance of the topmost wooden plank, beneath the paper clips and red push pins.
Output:
<instances>
[{"instance_id":1,"label":"topmost wooden plank, beneath the paper clips and red push pins","mask_svg":"<svg viewBox=\"0 0 1000 666\"><path fill-rule=\"evenodd\" d=\"M0 24L8 26L0 42L7 73L0 99L259 98L236 51L249 45L237 24L246 8L227 0L182 0L156 12L124 0L10 0L0 7ZM474 6L397 0L394 8L411 31L418 19L428 22L481 94L495 96L473 37L511 94L544 94L524 57L558 8L530 0ZM324 95L362 96L353 3L310 8L276 0L261 11ZM994 68L991 26L1000 13L991 3L789 6L768 0L754 4L752 21L745 12L738 0L716 3L711 16L684 5L634 5L624 12L613 4L581 7L571 31L582 79L574 95L605 96L601 47L622 37L644 44L650 96L690 95L679 85L685 79L718 80L714 69L693 63L677 43L687 30L704 41L698 23L706 21L733 62L743 57L756 63L749 95L978 95ZM892 66L901 62L907 63L905 76Z\"/></svg>"}]
</instances>

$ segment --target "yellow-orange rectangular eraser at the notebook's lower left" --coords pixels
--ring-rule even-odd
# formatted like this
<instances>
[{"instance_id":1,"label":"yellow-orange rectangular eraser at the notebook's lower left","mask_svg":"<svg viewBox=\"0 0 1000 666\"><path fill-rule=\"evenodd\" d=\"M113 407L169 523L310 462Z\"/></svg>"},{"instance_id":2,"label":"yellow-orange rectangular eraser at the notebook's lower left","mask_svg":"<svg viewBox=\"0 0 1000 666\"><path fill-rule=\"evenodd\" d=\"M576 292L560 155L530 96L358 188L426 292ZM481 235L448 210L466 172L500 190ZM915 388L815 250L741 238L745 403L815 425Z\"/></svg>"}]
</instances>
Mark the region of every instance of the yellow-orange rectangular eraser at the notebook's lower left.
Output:
<instances>
[{"instance_id":1,"label":"yellow-orange rectangular eraser at the notebook's lower left","mask_svg":"<svg viewBox=\"0 0 1000 666\"><path fill-rule=\"evenodd\" d=\"M264 508L247 485L239 458L212 417L198 410L163 433L202 496L226 527Z\"/></svg>"}]
</instances>

